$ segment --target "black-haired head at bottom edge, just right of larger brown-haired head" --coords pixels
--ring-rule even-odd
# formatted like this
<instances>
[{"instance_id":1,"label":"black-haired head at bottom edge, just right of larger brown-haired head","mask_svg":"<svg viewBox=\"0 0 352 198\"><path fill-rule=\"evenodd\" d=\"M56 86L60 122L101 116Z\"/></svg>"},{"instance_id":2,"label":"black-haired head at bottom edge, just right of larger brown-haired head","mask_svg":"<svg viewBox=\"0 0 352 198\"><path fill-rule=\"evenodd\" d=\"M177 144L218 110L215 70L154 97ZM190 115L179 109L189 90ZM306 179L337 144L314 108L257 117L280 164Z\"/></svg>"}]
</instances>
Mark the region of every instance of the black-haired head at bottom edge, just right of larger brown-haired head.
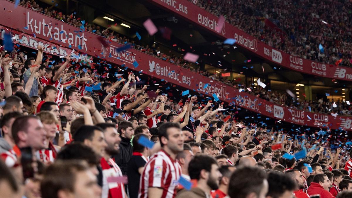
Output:
<instances>
[{"instance_id":1,"label":"black-haired head at bottom edge, just right of larger brown-haired head","mask_svg":"<svg viewBox=\"0 0 352 198\"><path fill-rule=\"evenodd\" d=\"M267 198L292 197L292 193L296 189L296 183L293 179L278 172L270 172L268 174L268 184Z\"/></svg>"}]
</instances>

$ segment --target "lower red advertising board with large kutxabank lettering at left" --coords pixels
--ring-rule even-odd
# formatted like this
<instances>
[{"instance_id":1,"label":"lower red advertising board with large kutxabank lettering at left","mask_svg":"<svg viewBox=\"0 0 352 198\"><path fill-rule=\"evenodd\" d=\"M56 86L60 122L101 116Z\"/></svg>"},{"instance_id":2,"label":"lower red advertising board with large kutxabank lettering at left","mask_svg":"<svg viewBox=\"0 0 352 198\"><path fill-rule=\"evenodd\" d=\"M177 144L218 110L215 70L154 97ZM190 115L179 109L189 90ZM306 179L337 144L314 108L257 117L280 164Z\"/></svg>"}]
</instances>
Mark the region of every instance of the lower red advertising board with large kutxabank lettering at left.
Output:
<instances>
[{"instance_id":1,"label":"lower red advertising board with large kutxabank lettering at left","mask_svg":"<svg viewBox=\"0 0 352 198\"><path fill-rule=\"evenodd\" d=\"M74 49L90 56L105 58L110 63L124 64L136 71L143 70L146 75L164 79L175 85L209 96L216 93L222 101L274 119L312 127L351 130L352 118L350 117L334 117L278 106L141 51L135 49L117 51L116 49L124 46L122 44L109 42L107 46L104 46L101 43L102 37L99 35L81 32L77 27L25 7L18 6L15 11L11 10L14 9L12 2L1 1L0 5L6 8L5 12L0 12L0 18L5 19L0 21L0 25L2 25L0 28L11 31L14 36L13 42L19 45L36 49L40 44L44 46L45 52L58 56L71 53ZM137 67L136 64L133 64L134 62L138 63ZM206 84L208 85L206 86Z\"/></svg>"}]
</instances>

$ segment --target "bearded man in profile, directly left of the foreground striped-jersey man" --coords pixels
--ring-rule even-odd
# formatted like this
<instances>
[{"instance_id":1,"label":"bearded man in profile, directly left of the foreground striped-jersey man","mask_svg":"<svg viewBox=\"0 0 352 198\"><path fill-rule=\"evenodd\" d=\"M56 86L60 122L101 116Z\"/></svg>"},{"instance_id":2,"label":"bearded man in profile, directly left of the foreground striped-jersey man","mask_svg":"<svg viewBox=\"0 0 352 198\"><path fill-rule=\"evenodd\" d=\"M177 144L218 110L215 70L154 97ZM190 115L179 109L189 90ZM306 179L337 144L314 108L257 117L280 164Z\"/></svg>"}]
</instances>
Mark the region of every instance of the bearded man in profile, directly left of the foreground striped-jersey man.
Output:
<instances>
[{"instance_id":1,"label":"bearded man in profile, directly left of the foreground striped-jersey man","mask_svg":"<svg viewBox=\"0 0 352 198\"><path fill-rule=\"evenodd\" d=\"M100 166L103 172L103 186L102 186L102 197L108 197L113 195L116 197L127 197L125 191L125 185L122 182L108 182L108 177L122 177L122 172L120 167L112 159L113 155L119 154L119 144L121 138L115 128L114 124L110 123L99 123L96 126L100 127L104 133L105 142L107 147L105 147L105 152L100 160Z\"/></svg>"}]
</instances>

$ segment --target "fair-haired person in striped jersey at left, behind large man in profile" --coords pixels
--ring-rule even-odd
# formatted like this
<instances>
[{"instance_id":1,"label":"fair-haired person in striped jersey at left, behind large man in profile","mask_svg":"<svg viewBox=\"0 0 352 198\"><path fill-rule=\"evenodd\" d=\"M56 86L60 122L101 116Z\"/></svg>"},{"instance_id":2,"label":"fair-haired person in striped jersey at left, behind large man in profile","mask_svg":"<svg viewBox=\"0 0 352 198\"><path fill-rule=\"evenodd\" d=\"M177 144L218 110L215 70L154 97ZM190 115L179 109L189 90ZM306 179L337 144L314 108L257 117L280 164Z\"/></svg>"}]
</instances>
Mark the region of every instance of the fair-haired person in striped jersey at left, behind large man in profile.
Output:
<instances>
[{"instance_id":1,"label":"fair-haired person in striped jersey at left, behind large man in profile","mask_svg":"<svg viewBox=\"0 0 352 198\"><path fill-rule=\"evenodd\" d=\"M58 120L56 116L50 111L40 111L37 117L42 121L44 129L46 131L46 149L42 149L36 152L38 159L40 159L45 164L50 164L54 162L57 152L61 147L54 145L52 141L54 140L57 132Z\"/></svg>"}]
</instances>

